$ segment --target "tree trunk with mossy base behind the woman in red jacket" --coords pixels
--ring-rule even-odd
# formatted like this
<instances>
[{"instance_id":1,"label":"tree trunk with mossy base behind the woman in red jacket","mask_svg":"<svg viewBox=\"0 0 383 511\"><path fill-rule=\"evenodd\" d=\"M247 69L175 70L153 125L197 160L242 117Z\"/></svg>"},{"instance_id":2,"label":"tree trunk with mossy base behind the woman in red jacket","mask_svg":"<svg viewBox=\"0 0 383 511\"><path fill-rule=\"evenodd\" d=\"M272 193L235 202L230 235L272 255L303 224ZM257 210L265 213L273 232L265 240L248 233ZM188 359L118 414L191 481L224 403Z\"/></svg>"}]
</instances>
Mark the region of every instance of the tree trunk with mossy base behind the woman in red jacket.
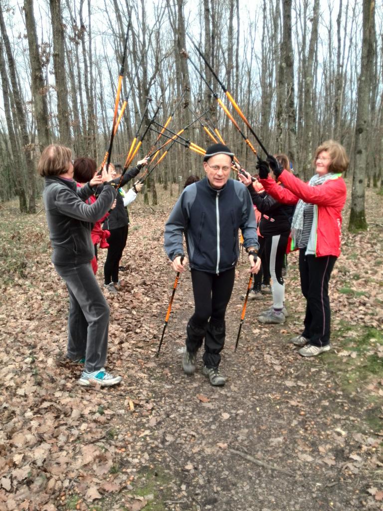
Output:
<instances>
[{"instance_id":1,"label":"tree trunk with mossy base behind the woman in red jacket","mask_svg":"<svg viewBox=\"0 0 383 511\"><path fill-rule=\"evenodd\" d=\"M365 176L367 162L367 137L369 130L369 104L371 97L371 73L370 61L373 59L373 24L375 16L375 1L363 0L363 40L361 55L361 74L358 83L355 148L354 148L354 172L352 176L352 195L350 231L367 229L365 215Z\"/></svg>"}]
</instances>

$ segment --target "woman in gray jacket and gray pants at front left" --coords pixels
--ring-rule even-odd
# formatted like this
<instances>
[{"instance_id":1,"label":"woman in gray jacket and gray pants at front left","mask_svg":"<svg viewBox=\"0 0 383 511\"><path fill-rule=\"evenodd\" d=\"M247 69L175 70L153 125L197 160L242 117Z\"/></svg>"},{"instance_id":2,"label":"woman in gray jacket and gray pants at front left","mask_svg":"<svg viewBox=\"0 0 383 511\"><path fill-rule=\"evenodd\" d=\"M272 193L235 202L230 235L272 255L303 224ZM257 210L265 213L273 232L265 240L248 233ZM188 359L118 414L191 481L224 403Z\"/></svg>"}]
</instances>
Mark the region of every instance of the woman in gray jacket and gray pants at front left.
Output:
<instances>
[{"instance_id":1,"label":"woman in gray jacket and gray pants at front left","mask_svg":"<svg viewBox=\"0 0 383 511\"><path fill-rule=\"evenodd\" d=\"M38 164L38 172L44 177L43 200L53 247L52 262L69 293L67 356L73 362L84 363L80 385L110 386L122 378L104 368L109 306L90 264L94 256L90 230L109 210L117 192L105 170L78 188L71 158L70 149L52 144L43 150ZM102 183L97 201L85 203Z\"/></svg>"}]
</instances>

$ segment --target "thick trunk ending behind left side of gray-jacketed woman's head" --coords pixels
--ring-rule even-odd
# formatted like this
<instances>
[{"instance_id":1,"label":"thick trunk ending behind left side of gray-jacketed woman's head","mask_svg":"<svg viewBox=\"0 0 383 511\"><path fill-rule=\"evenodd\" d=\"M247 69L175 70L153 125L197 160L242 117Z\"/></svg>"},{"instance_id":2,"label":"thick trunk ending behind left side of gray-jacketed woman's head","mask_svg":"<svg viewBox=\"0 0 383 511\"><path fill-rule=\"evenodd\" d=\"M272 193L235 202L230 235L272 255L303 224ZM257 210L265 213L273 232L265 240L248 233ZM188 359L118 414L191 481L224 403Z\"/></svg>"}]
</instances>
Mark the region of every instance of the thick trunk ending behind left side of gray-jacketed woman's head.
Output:
<instances>
[{"instance_id":1,"label":"thick trunk ending behind left side of gray-jacketed woman's head","mask_svg":"<svg viewBox=\"0 0 383 511\"><path fill-rule=\"evenodd\" d=\"M50 144L50 133L46 88L44 87L40 53L38 50L33 0L24 0L24 12L28 37L29 60L31 63L33 107L41 152L44 147Z\"/></svg>"}]
</instances>

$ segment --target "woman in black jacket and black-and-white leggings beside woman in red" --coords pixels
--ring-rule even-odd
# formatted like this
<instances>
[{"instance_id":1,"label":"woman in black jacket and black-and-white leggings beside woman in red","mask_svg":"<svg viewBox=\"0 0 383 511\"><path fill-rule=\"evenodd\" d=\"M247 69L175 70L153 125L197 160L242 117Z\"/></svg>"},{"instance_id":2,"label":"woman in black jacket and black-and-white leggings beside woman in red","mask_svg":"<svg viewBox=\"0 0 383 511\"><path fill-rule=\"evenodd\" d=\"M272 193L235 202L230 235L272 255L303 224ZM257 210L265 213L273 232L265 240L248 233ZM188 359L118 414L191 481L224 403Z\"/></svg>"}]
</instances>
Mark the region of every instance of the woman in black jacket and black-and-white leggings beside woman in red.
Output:
<instances>
[{"instance_id":1,"label":"woman in black jacket and black-and-white leggings beside woman in red","mask_svg":"<svg viewBox=\"0 0 383 511\"><path fill-rule=\"evenodd\" d=\"M276 159L284 169L290 170L290 161L285 154L277 154ZM261 213L259 232L265 240L265 260L272 280L273 307L258 316L261 323L284 323L287 313L284 308L284 282L282 267L289 239L294 206L281 204L267 194L258 194L252 185L251 176L238 174L248 187L253 204ZM280 184L282 186L282 184Z\"/></svg>"}]
</instances>

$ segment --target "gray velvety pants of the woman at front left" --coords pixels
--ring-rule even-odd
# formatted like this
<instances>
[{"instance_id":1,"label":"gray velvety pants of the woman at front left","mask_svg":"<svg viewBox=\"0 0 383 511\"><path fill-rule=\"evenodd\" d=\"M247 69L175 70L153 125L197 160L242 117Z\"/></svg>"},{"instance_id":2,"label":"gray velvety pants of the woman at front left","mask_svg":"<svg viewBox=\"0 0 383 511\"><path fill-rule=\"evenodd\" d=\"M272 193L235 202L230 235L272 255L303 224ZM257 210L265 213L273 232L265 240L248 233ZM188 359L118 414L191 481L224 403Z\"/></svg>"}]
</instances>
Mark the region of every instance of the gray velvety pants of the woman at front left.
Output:
<instances>
[{"instance_id":1,"label":"gray velvety pants of the woman at front left","mask_svg":"<svg viewBox=\"0 0 383 511\"><path fill-rule=\"evenodd\" d=\"M69 293L68 349L71 360L85 357L88 373L104 367L108 349L109 305L90 263L57 266Z\"/></svg>"}]
</instances>

